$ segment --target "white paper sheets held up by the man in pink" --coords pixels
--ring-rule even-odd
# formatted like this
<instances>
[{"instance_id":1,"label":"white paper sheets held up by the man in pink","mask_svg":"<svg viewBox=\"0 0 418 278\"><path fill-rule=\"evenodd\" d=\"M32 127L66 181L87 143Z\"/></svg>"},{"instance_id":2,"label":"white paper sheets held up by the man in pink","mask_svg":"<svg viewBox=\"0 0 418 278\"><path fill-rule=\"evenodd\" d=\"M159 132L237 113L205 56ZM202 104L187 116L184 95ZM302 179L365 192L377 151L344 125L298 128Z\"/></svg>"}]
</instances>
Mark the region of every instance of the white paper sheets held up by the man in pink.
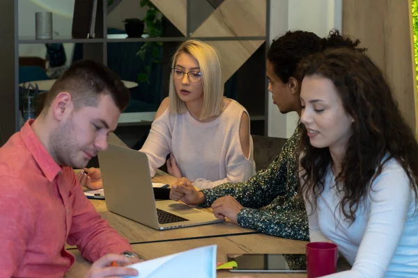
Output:
<instances>
[{"instance_id":1,"label":"white paper sheets held up by the man in pink","mask_svg":"<svg viewBox=\"0 0 418 278\"><path fill-rule=\"evenodd\" d=\"M131 278L216 278L217 245L199 247L185 252L129 265L138 270ZM127 276L125 276L127 278Z\"/></svg>"}]
</instances>

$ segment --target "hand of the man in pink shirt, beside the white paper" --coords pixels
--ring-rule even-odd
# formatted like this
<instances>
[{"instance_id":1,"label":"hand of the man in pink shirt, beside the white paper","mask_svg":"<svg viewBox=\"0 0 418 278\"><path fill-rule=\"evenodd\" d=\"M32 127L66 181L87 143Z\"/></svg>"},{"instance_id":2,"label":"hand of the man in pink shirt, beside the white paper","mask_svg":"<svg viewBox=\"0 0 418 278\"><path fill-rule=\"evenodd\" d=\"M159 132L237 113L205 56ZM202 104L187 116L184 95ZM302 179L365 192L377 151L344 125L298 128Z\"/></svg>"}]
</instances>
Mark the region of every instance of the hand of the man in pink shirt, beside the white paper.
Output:
<instances>
[{"instance_id":1,"label":"hand of the man in pink shirt, beside the white paper","mask_svg":"<svg viewBox=\"0 0 418 278\"><path fill-rule=\"evenodd\" d=\"M90 270L85 278L101 278L101 277L123 277L123 276L137 276L138 271L133 268L126 268L125 266L111 266L113 261L118 265L130 265L132 259L118 254L107 254L95 261L91 265ZM138 259L138 258L135 258Z\"/></svg>"}]
</instances>

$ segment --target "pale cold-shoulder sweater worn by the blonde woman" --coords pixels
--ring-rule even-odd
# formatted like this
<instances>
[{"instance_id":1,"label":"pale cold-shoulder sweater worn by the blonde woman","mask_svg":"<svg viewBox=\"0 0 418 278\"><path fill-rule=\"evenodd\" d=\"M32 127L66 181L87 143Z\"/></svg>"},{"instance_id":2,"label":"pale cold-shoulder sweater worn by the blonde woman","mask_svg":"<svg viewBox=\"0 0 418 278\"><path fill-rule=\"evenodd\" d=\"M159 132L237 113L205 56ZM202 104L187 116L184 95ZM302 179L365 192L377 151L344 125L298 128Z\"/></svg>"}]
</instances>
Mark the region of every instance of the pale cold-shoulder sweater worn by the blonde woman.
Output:
<instances>
[{"instance_id":1,"label":"pale cold-shoulder sweater worn by the blonde woman","mask_svg":"<svg viewBox=\"0 0 418 278\"><path fill-rule=\"evenodd\" d=\"M249 158L242 152L239 134L242 113L247 111L232 99L212 122L196 121L188 111L169 113L167 108L153 122L139 150L148 156L151 176L172 153L183 177L198 188L247 181L255 174L255 163L251 136Z\"/></svg>"}]
</instances>

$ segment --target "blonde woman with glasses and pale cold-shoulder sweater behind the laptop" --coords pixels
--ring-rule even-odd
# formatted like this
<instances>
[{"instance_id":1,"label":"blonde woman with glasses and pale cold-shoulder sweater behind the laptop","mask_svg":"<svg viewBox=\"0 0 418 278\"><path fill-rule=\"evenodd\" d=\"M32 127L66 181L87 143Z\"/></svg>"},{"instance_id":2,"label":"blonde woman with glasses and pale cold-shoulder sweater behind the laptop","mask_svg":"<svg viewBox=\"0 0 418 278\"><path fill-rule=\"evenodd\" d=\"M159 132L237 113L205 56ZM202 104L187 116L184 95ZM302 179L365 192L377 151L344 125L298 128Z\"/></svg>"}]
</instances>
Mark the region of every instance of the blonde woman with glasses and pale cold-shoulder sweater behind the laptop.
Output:
<instances>
[{"instance_id":1,"label":"blonde woman with glasses and pale cold-shoulder sweater behind the laptop","mask_svg":"<svg viewBox=\"0 0 418 278\"><path fill-rule=\"evenodd\" d=\"M215 49L199 40L178 47L171 65L169 97L155 115L139 152L148 156L151 176L166 163L169 174L197 188L246 181L255 174L249 115L223 97L224 84ZM102 187L100 171L79 174L80 183Z\"/></svg>"}]
</instances>

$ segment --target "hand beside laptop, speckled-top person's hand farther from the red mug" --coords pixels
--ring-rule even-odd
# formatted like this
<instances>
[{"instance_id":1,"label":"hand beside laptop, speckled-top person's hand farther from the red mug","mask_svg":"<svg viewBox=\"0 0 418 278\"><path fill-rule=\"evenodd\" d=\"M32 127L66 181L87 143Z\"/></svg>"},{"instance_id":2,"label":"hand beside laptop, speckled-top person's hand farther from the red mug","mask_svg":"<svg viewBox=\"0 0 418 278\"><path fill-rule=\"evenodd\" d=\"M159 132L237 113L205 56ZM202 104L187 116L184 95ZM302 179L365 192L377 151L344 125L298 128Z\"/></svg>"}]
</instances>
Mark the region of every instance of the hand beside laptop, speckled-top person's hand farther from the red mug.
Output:
<instances>
[{"instance_id":1,"label":"hand beside laptop, speckled-top person's hand farther from the red mug","mask_svg":"<svg viewBox=\"0 0 418 278\"><path fill-rule=\"evenodd\" d=\"M197 191L188 179L180 178L171 186L170 199L196 205L205 202L205 195Z\"/></svg>"}]
</instances>

